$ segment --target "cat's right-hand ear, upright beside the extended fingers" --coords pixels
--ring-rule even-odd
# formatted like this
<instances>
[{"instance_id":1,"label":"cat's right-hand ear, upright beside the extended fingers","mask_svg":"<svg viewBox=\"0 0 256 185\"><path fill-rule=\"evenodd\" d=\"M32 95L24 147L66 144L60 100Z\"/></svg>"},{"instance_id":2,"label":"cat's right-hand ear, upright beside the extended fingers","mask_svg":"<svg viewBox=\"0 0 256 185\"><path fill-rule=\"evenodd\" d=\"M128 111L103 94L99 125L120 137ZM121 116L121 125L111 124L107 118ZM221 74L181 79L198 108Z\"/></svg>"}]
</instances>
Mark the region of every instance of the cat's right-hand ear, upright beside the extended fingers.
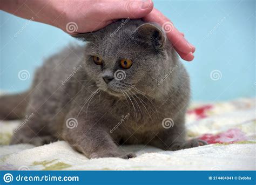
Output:
<instances>
[{"instance_id":1,"label":"cat's right-hand ear, upright beside the extended fingers","mask_svg":"<svg viewBox=\"0 0 256 185\"><path fill-rule=\"evenodd\" d=\"M158 49L163 48L166 42L166 35L163 29L151 23L140 25L134 31L133 37Z\"/></svg>"}]
</instances>

